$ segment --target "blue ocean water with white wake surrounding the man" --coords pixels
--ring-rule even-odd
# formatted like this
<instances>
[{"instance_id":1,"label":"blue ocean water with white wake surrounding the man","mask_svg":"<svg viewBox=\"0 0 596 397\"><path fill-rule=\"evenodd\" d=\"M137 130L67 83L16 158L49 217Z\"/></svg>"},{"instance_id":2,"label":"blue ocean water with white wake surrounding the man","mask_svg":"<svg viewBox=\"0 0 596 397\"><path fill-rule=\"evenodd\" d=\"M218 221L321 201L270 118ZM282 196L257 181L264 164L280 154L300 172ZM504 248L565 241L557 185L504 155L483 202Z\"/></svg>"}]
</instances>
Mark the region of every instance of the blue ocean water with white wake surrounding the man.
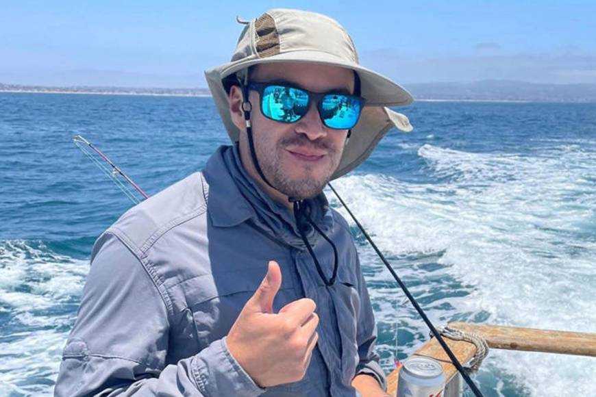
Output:
<instances>
[{"instance_id":1,"label":"blue ocean water with white wake surrounding the man","mask_svg":"<svg viewBox=\"0 0 596 397\"><path fill-rule=\"evenodd\" d=\"M434 323L596 332L596 105L402 111L414 131L334 186ZM149 194L227 143L210 98L0 93L0 396L51 394L90 248L132 205L77 133ZM389 371L428 331L351 225ZM596 361L493 350L473 379L485 396L583 396Z\"/></svg>"}]
</instances>

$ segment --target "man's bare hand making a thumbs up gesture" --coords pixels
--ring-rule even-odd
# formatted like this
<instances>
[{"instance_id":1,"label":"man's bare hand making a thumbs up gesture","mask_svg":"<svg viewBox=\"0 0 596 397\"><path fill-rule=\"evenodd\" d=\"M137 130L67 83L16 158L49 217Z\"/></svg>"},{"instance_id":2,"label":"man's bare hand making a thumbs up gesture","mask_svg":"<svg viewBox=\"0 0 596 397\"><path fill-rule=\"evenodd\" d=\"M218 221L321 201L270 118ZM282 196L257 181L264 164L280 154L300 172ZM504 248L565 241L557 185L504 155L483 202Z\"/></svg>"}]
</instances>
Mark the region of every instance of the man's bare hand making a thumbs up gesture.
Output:
<instances>
[{"instance_id":1,"label":"man's bare hand making a thumbs up gesture","mask_svg":"<svg viewBox=\"0 0 596 397\"><path fill-rule=\"evenodd\" d=\"M229 353L260 387L302 379L319 339L312 299L295 300L273 313L280 285L280 265L270 261L265 278L227 335Z\"/></svg>"}]
</instances>

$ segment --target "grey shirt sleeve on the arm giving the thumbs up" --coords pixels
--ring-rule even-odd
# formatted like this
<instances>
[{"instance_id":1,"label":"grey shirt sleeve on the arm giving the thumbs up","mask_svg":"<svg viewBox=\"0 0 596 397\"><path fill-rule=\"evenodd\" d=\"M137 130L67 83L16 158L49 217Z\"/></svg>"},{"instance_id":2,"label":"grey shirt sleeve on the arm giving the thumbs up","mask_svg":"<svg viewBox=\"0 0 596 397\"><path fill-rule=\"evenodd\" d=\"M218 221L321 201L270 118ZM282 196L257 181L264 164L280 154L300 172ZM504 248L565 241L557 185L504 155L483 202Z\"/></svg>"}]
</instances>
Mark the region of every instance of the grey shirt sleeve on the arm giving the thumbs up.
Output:
<instances>
[{"instance_id":1,"label":"grey shirt sleeve on the arm giving the thumbs up","mask_svg":"<svg viewBox=\"0 0 596 397\"><path fill-rule=\"evenodd\" d=\"M169 316L138 258L106 233L66 342L55 396L259 396L225 337L166 365Z\"/></svg>"}]
</instances>

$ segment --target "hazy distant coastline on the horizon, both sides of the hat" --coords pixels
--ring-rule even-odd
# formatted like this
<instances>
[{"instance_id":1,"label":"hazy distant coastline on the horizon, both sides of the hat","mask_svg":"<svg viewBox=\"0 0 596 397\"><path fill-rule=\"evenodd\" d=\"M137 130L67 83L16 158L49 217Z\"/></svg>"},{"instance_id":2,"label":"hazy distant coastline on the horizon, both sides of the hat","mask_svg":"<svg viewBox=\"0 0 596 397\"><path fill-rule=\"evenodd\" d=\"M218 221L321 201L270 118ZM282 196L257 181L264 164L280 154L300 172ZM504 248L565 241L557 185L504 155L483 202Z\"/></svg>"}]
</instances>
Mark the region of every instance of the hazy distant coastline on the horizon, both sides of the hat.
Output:
<instances>
[{"instance_id":1,"label":"hazy distant coastline on the horizon, both sides of the hat","mask_svg":"<svg viewBox=\"0 0 596 397\"><path fill-rule=\"evenodd\" d=\"M405 87L417 101L422 102L596 103L596 84L532 84L523 81L485 80L468 84L406 84ZM46 87L2 83L0 92L211 97L208 88Z\"/></svg>"}]
</instances>

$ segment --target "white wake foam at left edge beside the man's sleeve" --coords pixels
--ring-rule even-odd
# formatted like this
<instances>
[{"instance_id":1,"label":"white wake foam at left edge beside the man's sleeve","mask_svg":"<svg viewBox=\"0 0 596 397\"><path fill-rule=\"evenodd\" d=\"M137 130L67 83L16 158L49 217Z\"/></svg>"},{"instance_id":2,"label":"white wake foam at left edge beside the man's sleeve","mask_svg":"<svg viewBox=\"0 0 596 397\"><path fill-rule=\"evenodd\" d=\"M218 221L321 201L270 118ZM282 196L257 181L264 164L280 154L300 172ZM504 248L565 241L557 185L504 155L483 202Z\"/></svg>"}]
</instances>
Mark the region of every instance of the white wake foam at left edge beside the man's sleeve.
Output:
<instances>
[{"instance_id":1,"label":"white wake foam at left edge beside the man's sleeve","mask_svg":"<svg viewBox=\"0 0 596 397\"><path fill-rule=\"evenodd\" d=\"M88 262L38 242L0 242L0 396L51 395ZM66 312L66 314L64 314ZM6 393L6 394L3 394Z\"/></svg>"}]
</instances>

